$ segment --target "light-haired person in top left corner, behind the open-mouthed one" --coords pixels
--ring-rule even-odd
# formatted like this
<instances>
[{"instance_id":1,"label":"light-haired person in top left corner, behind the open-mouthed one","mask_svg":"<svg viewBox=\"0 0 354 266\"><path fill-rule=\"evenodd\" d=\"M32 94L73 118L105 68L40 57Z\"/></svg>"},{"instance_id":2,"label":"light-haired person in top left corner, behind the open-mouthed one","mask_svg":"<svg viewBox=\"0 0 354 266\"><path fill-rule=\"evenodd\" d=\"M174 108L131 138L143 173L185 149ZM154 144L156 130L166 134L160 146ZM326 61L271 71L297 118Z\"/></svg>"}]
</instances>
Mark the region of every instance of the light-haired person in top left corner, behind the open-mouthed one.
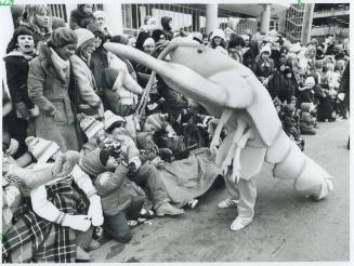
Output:
<instances>
[{"instance_id":1,"label":"light-haired person in top left corner, behind the open-mouthed one","mask_svg":"<svg viewBox=\"0 0 354 266\"><path fill-rule=\"evenodd\" d=\"M48 4L26 4L18 18L18 26L27 27L32 32L37 49L50 38L54 29L66 26L64 19L50 14Z\"/></svg>"}]
</instances>

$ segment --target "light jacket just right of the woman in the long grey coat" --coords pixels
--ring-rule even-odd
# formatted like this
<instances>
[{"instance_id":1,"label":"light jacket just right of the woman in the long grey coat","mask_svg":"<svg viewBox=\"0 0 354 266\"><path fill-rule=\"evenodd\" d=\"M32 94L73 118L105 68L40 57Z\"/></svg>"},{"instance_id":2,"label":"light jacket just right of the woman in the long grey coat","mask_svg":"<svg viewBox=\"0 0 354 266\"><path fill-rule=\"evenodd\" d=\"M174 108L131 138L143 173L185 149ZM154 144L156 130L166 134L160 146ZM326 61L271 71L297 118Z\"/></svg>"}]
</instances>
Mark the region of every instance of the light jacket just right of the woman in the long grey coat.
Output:
<instances>
[{"instance_id":1,"label":"light jacket just right of the woman in the long grey coat","mask_svg":"<svg viewBox=\"0 0 354 266\"><path fill-rule=\"evenodd\" d=\"M77 112L83 112L96 119L102 118L103 105L96 94L96 83L88 64L77 54L70 57L70 63Z\"/></svg>"}]
</instances>

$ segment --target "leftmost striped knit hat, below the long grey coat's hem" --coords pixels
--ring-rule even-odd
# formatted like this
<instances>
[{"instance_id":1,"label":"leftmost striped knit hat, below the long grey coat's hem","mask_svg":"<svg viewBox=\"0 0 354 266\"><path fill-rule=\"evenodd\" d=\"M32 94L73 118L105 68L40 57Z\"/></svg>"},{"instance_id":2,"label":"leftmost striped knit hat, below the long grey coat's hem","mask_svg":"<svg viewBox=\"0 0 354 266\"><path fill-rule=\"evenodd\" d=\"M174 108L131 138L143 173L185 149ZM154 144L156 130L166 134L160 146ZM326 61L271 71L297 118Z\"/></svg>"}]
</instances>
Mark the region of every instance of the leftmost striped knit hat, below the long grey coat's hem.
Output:
<instances>
[{"instance_id":1,"label":"leftmost striped knit hat, below the long grey coat's hem","mask_svg":"<svg viewBox=\"0 0 354 266\"><path fill-rule=\"evenodd\" d=\"M37 159L38 163L45 163L61 148L52 141L41 137L28 136L26 139L28 151Z\"/></svg>"}]
</instances>

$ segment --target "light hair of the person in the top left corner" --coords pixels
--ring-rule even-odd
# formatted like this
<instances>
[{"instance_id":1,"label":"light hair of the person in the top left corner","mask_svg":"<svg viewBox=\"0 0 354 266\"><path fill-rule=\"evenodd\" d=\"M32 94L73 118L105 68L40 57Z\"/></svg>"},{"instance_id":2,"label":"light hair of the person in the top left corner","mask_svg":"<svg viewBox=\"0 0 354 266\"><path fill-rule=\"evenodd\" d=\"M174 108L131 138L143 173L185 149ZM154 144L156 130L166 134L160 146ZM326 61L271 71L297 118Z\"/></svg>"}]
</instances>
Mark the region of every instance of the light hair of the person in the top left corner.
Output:
<instances>
[{"instance_id":1,"label":"light hair of the person in the top left corner","mask_svg":"<svg viewBox=\"0 0 354 266\"><path fill-rule=\"evenodd\" d=\"M41 29L36 24L36 15L41 12L45 12L48 15L51 15L48 4L26 4L24 13L19 17L19 25L26 25L35 32L41 32ZM50 19L49 27L45 31L52 31L52 19Z\"/></svg>"}]
</instances>

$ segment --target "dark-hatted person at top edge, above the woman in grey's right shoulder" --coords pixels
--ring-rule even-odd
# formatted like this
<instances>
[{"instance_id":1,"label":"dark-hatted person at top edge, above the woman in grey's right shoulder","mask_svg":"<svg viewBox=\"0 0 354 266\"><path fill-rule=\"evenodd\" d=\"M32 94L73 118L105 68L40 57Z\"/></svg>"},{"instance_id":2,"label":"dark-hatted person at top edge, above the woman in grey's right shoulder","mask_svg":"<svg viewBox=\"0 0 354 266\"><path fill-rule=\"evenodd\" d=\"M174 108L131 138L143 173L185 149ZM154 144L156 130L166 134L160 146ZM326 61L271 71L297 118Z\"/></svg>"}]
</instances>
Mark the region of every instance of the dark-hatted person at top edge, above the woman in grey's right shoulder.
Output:
<instances>
[{"instance_id":1,"label":"dark-hatted person at top edge, above the woman in grey's right shoulder","mask_svg":"<svg viewBox=\"0 0 354 266\"><path fill-rule=\"evenodd\" d=\"M78 8L71 11L69 27L70 29L86 28L94 22L93 4L78 4Z\"/></svg>"}]
</instances>

